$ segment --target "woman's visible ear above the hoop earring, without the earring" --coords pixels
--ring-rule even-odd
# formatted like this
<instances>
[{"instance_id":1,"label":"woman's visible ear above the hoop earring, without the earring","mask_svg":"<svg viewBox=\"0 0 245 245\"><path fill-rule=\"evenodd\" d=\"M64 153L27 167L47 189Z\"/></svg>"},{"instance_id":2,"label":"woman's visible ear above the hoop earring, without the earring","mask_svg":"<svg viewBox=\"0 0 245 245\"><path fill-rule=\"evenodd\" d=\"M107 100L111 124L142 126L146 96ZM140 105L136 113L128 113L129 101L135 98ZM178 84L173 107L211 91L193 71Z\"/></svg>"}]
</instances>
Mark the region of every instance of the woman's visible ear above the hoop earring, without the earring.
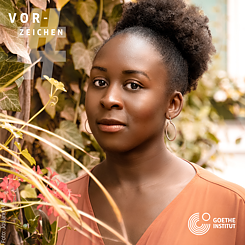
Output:
<instances>
[{"instance_id":1,"label":"woman's visible ear above the hoop earring, without the earring","mask_svg":"<svg viewBox=\"0 0 245 245\"><path fill-rule=\"evenodd\" d=\"M183 103L184 103L183 95L180 92L175 91L170 96L169 105L166 112L166 118L173 119L177 117L183 108Z\"/></svg>"}]
</instances>

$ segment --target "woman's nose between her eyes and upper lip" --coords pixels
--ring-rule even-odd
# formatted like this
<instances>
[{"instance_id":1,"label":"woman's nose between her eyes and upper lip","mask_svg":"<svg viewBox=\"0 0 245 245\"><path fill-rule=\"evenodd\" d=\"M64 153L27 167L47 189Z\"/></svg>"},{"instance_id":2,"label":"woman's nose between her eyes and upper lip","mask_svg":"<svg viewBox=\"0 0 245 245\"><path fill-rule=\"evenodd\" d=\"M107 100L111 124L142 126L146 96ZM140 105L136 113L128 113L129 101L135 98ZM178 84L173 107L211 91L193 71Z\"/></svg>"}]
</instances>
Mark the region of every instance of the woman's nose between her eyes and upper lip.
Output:
<instances>
[{"instance_id":1,"label":"woman's nose between her eyes and upper lip","mask_svg":"<svg viewBox=\"0 0 245 245\"><path fill-rule=\"evenodd\" d=\"M114 86L109 86L100 100L101 106L107 110L113 108L121 110L123 108L121 93L120 86L116 84Z\"/></svg>"}]
</instances>

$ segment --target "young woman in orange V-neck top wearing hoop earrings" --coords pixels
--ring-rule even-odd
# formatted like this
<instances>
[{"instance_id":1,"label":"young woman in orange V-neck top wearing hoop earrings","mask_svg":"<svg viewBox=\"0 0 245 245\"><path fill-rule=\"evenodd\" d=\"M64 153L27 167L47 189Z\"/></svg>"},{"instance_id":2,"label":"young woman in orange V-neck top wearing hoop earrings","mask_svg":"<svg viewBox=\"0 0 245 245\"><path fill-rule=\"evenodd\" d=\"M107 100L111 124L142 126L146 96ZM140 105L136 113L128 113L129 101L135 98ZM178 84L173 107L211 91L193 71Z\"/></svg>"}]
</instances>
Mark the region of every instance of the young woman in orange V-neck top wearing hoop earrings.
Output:
<instances>
[{"instance_id":1,"label":"young woman in orange V-neck top wearing hoop earrings","mask_svg":"<svg viewBox=\"0 0 245 245\"><path fill-rule=\"evenodd\" d=\"M184 94L196 88L215 52L207 22L183 0L126 4L93 61L86 112L106 160L92 173L117 203L132 244L245 244L244 189L176 157L163 139L166 121L179 115ZM69 188L82 195L80 210L121 233L88 175ZM84 221L104 238L63 229L58 244L123 244Z\"/></svg>"}]
</instances>

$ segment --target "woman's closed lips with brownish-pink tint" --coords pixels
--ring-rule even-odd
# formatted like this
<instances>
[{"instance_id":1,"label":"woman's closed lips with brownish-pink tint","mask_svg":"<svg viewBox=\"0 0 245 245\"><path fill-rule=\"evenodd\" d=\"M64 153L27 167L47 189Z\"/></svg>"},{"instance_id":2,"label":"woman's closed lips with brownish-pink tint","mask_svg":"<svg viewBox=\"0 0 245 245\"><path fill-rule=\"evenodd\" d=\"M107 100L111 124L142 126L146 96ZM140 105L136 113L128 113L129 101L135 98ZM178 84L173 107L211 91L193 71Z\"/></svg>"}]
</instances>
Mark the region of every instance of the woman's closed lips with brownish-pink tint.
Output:
<instances>
[{"instance_id":1,"label":"woman's closed lips with brownish-pink tint","mask_svg":"<svg viewBox=\"0 0 245 245\"><path fill-rule=\"evenodd\" d=\"M103 132L115 133L125 128L125 124L116 119L103 118L98 121L98 127Z\"/></svg>"}]
</instances>

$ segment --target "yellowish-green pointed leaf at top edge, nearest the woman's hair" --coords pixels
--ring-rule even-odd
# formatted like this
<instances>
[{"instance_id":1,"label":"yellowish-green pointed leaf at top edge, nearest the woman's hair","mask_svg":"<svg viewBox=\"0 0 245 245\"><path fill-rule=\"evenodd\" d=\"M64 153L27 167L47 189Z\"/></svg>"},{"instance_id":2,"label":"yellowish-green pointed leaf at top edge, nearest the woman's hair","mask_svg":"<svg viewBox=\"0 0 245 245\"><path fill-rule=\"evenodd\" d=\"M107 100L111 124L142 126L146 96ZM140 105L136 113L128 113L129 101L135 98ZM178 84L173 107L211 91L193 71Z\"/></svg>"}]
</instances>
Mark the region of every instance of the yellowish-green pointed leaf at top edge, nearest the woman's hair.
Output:
<instances>
[{"instance_id":1,"label":"yellowish-green pointed leaf at top edge, nearest the woman's hair","mask_svg":"<svg viewBox=\"0 0 245 245\"><path fill-rule=\"evenodd\" d=\"M79 0L77 2L77 14L79 14L82 20L87 26L92 25L92 20L97 13L97 3L94 0Z\"/></svg>"}]
</instances>

